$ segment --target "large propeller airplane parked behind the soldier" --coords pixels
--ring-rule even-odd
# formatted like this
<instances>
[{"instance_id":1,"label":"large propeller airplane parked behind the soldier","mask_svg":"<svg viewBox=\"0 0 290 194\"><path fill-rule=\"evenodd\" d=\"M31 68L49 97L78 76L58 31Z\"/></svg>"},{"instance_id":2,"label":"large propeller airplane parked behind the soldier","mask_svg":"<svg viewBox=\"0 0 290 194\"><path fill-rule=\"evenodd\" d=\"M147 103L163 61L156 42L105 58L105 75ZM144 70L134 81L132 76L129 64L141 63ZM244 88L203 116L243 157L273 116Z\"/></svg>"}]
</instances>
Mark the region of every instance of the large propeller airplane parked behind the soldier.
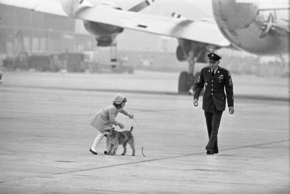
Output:
<instances>
[{"instance_id":1,"label":"large propeller airplane parked behind the soldier","mask_svg":"<svg viewBox=\"0 0 290 194\"><path fill-rule=\"evenodd\" d=\"M287 0L211 0L215 21L185 18L175 13L174 7L171 16L140 12L154 0L138 1L126 10L118 6L118 2L0 0L0 4L81 19L85 29L96 37L98 46L116 46L116 36L124 29L177 38L176 57L179 61L187 60L189 66L188 71L180 73L179 93L191 92L199 74L195 66L198 63L206 66L207 54L220 48L245 50L257 55L289 53L290 6ZM189 10L194 10L192 4L188 6ZM112 57L111 61L114 60Z\"/></svg>"}]
</instances>

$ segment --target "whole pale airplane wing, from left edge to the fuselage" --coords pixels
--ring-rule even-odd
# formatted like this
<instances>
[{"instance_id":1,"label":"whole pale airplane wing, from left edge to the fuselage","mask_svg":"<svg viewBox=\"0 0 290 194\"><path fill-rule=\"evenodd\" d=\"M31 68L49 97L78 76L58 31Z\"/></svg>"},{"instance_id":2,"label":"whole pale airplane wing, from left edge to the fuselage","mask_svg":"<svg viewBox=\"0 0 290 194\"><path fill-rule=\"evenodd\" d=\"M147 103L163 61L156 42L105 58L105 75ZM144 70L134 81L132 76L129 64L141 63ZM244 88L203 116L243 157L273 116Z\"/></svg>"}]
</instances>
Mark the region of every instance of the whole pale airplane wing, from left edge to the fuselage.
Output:
<instances>
[{"instance_id":1,"label":"whole pale airplane wing, from left edge to the fuselage","mask_svg":"<svg viewBox=\"0 0 290 194\"><path fill-rule=\"evenodd\" d=\"M0 0L0 3L45 13L68 16L57 0ZM122 28L144 31L163 36L184 38L218 47L228 47L215 22L208 20L192 21L185 18L172 18L148 15L140 12L109 9L104 7L82 6L70 17L115 25Z\"/></svg>"}]
</instances>

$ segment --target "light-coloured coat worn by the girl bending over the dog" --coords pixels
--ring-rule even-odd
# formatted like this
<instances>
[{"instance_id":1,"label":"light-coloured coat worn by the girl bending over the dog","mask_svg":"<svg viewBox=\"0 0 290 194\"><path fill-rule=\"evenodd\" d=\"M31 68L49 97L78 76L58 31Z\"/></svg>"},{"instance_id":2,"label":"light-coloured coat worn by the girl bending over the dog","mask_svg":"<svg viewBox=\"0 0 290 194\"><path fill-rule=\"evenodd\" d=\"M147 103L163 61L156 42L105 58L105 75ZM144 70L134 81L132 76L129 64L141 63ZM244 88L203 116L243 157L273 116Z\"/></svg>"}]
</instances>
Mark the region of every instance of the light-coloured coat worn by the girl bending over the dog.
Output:
<instances>
[{"instance_id":1,"label":"light-coloured coat worn by the girl bending over the dog","mask_svg":"<svg viewBox=\"0 0 290 194\"><path fill-rule=\"evenodd\" d=\"M113 124L118 126L120 124L120 122L115 119L119 112L126 116L129 114L126 109L120 108L118 110L114 105L111 105L99 110L92 118L90 118L90 124L101 133L104 133L106 127L112 127Z\"/></svg>"}]
</instances>

